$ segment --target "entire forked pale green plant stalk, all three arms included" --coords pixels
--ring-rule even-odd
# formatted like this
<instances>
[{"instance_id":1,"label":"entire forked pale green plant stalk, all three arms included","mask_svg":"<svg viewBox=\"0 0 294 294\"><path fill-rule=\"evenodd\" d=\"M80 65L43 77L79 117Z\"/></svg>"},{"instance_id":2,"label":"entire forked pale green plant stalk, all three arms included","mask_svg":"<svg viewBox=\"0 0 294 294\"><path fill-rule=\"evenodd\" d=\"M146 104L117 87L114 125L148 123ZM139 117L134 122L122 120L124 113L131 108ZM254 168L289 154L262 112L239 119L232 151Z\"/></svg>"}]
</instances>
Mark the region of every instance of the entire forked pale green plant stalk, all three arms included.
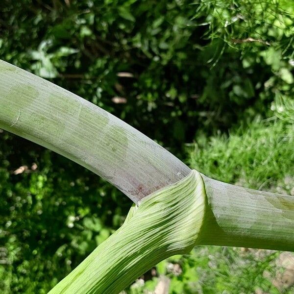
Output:
<instances>
[{"instance_id":1,"label":"entire forked pale green plant stalk, all three arms included","mask_svg":"<svg viewBox=\"0 0 294 294\"><path fill-rule=\"evenodd\" d=\"M118 118L3 61L0 90L1 128L101 175L138 204L50 294L118 293L161 260L194 245L294 251L294 196L191 171Z\"/></svg>"}]
</instances>

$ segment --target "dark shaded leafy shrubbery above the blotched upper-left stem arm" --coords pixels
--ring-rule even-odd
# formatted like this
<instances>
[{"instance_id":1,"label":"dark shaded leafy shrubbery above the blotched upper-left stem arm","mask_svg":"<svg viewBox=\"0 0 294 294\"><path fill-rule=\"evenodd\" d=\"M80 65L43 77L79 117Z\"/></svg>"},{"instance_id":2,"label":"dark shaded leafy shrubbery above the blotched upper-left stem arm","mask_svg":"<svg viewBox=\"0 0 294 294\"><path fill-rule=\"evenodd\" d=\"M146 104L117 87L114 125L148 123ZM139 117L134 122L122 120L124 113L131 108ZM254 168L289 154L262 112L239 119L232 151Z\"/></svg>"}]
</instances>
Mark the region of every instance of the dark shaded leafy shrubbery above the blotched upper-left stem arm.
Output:
<instances>
[{"instance_id":1,"label":"dark shaded leafy shrubbery above the blotched upper-left stem arm","mask_svg":"<svg viewBox=\"0 0 294 294\"><path fill-rule=\"evenodd\" d=\"M178 152L293 94L293 7L267 2L7 0L0 54Z\"/></svg>"}]
</instances>

